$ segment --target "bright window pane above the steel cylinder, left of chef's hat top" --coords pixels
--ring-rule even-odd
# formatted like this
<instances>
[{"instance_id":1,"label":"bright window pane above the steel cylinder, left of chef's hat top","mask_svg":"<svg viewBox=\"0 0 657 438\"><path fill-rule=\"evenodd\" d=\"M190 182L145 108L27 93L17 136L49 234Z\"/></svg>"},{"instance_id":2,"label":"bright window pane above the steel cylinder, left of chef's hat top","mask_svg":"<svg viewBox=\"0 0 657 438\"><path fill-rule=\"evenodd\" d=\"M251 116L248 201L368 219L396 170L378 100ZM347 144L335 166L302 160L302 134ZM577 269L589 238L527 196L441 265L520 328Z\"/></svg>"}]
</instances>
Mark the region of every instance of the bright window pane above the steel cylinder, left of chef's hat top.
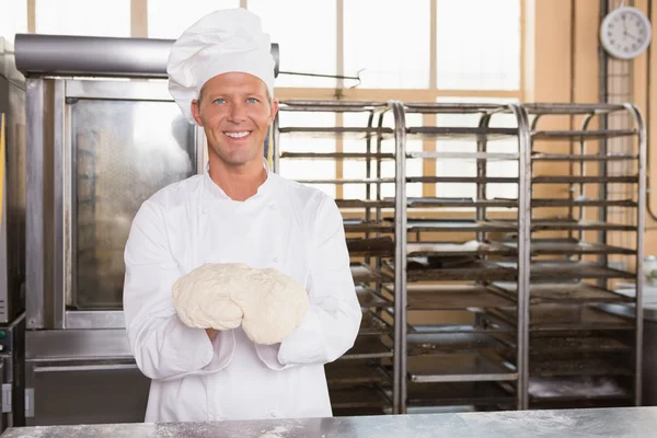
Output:
<instances>
[{"instance_id":1,"label":"bright window pane above the steel cylinder, left of chef's hat top","mask_svg":"<svg viewBox=\"0 0 657 438\"><path fill-rule=\"evenodd\" d=\"M210 12L239 5L240 0L148 0L148 36L177 39L187 27Z\"/></svg>"}]
</instances>

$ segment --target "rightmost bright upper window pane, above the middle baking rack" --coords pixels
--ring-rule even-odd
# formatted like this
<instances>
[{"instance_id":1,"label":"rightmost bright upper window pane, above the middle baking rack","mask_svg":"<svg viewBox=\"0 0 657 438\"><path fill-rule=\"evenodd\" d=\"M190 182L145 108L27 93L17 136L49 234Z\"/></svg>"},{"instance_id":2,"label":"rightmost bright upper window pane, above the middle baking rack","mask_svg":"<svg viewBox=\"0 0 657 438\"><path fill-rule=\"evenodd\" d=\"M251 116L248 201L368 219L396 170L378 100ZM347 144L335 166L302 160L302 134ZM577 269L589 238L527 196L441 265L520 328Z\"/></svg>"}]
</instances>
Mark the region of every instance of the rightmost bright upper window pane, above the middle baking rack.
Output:
<instances>
[{"instance_id":1,"label":"rightmost bright upper window pane, above the middle baking rack","mask_svg":"<svg viewBox=\"0 0 657 438\"><path fill-rule=\"evenodd\" d=\"M438 0L436 13L438 89L520 89L519 0Z\"/></svg>"}]
</instances>

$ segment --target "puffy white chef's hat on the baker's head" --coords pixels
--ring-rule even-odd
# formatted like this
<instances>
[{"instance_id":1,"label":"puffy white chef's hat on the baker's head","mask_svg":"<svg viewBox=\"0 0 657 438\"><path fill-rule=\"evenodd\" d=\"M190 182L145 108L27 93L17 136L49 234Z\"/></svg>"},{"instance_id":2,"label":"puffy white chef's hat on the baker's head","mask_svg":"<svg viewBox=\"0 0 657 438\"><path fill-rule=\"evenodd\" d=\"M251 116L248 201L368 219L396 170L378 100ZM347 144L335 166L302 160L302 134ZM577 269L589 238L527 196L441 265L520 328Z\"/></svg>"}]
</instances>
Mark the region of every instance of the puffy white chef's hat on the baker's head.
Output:
<instances>
[{"instance_id":1,"label":"puffy white chef's hat on the baker's head","mask_svg":"<svg viewBox=\"0 0 657 438\"><path fill-rule=\"evenodd\" d=\"M239 71L265 82L273 96L275 60L261 20L245 9L215 11L187 28L173 44L166 72L169 92L189 123L192 101L217 74Z\"/></svg>"}]
</instances>

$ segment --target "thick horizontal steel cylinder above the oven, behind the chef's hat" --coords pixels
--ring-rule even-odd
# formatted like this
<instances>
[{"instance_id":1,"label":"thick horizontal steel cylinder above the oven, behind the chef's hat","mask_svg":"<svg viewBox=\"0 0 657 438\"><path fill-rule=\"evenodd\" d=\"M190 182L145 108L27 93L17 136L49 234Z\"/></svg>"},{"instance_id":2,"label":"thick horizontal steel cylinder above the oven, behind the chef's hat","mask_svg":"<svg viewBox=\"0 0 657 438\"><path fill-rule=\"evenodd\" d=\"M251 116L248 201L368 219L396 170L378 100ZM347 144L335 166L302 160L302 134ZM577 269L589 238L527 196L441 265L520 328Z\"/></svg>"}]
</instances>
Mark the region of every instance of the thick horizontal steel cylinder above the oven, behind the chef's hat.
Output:
<instances>
[{"instance_id":1,"label":"thick horizontal steel cylinder above the oven, behind the chef's hat","mask_svg":"<svg viewBox=\"0 0 657 438\"><path fill-rule=\"evenodd\" d=\"M79 74L166 78L173 39L16 34L16 69L25 76ZM279 47L272 43L278 77Z\"/></svg>"}]
</instances>

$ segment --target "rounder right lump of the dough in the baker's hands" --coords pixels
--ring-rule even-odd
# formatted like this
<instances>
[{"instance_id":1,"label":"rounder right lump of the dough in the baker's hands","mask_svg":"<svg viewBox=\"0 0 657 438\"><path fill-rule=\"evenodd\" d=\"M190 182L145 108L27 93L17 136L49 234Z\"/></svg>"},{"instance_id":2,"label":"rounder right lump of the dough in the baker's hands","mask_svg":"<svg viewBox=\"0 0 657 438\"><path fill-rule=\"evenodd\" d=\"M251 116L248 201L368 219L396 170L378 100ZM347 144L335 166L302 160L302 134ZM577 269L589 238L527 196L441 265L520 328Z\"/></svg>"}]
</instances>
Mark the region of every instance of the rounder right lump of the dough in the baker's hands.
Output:
<instances>
[{"instance_id":1,"label":"rounder right lump of the dough in the baker's hands","mask_svg":"<svg viewBox=\"0 0 657 438\"><path fill-rule=\"evenodd\" d=\"M274 268L247 270L244 287L232 299L242 308L242 327L256 344L283 342L301 324L308 292L292 277Z\"/></svg>"}]
</instances>

